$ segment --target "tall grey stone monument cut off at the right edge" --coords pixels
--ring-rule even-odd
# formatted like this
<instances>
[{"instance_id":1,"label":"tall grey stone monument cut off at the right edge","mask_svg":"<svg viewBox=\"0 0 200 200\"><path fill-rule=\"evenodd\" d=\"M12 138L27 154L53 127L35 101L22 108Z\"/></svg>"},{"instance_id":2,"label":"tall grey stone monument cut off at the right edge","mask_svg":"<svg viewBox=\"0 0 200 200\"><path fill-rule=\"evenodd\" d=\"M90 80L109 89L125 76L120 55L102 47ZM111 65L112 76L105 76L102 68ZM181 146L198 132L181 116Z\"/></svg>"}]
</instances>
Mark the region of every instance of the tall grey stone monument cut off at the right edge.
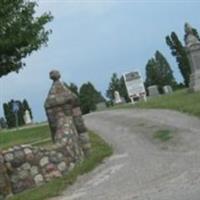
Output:
<instances>
[{"instance_id":1,"label":"tall grey stone monument cut off at the right edge","mask_svg":"<svg viewBox=\"0 0 200 200\"><path fill-rule=\"evenodd\" d=\"M190 90L200 91L200 41L193 33L193 28L185 24L186 52L191 66Z\"/></svg>"}]
</instances>

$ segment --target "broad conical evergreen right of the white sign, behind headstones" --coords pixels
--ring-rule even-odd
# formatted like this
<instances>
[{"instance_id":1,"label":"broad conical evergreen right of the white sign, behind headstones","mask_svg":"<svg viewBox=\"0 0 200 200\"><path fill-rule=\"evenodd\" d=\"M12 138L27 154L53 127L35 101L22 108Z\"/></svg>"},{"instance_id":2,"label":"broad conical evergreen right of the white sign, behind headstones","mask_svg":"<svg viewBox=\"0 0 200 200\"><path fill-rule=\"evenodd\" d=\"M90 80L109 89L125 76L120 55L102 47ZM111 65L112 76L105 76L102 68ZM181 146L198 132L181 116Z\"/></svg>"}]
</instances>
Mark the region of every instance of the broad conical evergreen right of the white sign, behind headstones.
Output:
<instances>
[{"instance_id":1,"label":"broad conical evergreen right of the white sign, behind headstones","mask_svg":"<svg viewBox=\"0 0 200 200\"><path fill-rule=\"evenodd\" d=\"M165 85L176 86L173 72L166 58L156 51L155 58L151 58L146 65L146 86L158 85L160 92Z\"/></svg>"}]
</instances>

